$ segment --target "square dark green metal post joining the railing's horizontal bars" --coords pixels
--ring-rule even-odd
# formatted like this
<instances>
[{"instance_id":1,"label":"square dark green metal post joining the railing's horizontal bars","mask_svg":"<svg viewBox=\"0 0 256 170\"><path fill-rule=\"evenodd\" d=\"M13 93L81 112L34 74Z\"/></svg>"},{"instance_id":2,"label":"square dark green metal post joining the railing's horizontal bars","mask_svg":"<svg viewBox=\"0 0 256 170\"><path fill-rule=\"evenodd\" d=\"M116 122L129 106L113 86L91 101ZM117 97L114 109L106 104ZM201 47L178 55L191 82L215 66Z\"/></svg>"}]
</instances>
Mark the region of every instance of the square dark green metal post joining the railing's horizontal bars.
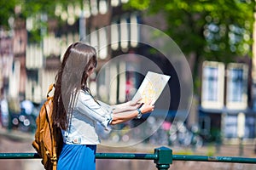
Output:
<instances>
[{"instance_id":1,"label":"square dark green metal post joining the railing's horizontal bars","mask_svg":"<svg viewBox=\"0 0 256 170\"><path fill-rule=\"evenodd\" d=\"M166 147L154 149L154 155L157 158L154 160L158 170L167 170L172 164L172 150Z\"/></svg>"}]
</instances>

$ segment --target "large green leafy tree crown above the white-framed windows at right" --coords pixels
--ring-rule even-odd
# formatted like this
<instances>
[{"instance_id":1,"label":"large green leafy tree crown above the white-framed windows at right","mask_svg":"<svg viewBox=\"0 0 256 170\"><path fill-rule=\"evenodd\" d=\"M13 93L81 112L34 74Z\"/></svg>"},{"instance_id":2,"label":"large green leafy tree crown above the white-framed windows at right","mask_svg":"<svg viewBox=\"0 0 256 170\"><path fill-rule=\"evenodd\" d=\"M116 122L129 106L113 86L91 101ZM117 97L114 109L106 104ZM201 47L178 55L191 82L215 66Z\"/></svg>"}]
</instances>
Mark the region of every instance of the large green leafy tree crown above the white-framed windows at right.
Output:
<instances>
[{"instance_id":1,"label":"large green leafy tree crown above the white-framed windows at right","mask_svg":"<svg viewBox=\"0 0 256 170\"><path fill-rule=\"evenodd\" d=\"M185 55L195 55L195 86L202 60L228 63L252 54L253 0L130 0L128 7L163 14L166 33Z\"/></svg>"}]
</instances>

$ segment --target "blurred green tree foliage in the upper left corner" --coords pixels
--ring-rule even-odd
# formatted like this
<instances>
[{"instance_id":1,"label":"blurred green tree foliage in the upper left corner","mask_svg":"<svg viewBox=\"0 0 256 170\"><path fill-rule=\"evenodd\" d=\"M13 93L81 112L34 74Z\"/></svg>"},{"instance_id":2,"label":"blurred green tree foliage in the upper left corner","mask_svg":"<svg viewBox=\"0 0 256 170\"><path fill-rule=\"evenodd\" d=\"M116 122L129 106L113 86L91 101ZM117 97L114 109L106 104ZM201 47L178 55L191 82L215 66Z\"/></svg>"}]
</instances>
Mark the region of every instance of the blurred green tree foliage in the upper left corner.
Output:
<instances>
[{"instance_id":1,"label":"blurred green tree foliage in the upper left corner","mask_svg":"<svg viewBox=\"0 0 256 170\"><path fill-rule=\"evenodd\" d=\"M58 24L63 24L61 14L56 15L56 7L61 7L61 12L67 14L68 5L79 5L83 7L83 0L9 0L0 1L0 27L4 30L9 30L14 24L12 21L16 19L31 19L32 29L28 30L29 40L37 42L42 36L41 29L47 26L48 19L58 20ZM59 12L60 13L60 12Z\"/></svg>"}]
</instances>

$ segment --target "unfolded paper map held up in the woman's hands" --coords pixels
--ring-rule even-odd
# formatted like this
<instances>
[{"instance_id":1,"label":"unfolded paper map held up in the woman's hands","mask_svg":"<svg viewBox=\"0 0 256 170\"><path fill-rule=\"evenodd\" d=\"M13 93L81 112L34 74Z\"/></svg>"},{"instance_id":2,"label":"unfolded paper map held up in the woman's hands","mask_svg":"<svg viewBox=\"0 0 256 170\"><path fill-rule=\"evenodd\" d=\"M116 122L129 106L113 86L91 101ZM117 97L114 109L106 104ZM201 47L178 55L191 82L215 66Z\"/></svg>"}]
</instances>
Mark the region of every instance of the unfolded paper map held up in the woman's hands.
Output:
<instances>
[{"instance_id":1,"label":"unfolded paper map held up in the woman's hands","mask_svg":"<svg viewBox=\"0 0 256 170\"><path fill-rule=\"evenodd\" d=\"M169 79L170 76L148 71L133 99L142 98L140 102L148 103L151 101L152 105L154 105L155 101L160 97L160 94L166 87L166 83Z\"/></svg>"}]
</instances>

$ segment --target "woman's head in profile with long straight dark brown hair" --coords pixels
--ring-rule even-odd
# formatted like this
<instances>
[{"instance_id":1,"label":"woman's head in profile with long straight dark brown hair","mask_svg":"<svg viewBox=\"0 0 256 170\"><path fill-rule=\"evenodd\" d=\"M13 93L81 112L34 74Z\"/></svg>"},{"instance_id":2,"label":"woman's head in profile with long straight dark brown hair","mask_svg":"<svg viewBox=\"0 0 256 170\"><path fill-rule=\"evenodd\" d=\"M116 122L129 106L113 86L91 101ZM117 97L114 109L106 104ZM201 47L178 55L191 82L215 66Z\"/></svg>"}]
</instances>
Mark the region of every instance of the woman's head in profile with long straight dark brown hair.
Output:
<instances>
[{"instance_id":1,"label":"woman's head in profile with long straight dark brown hair","mask_svg":"<svg viewBox=\"0 0 256 170\"><path fill-rule=\"evenodd\" d=\"M80 89L88 91L88 71L96 67L96 49L83 42L74 42L64 54L55 77L52 120L55 127L67 130L73 103ZM74 95L73 95L74 94ZM74 98L73 98L74 96Z\"/></svg>"}]
</instances>

